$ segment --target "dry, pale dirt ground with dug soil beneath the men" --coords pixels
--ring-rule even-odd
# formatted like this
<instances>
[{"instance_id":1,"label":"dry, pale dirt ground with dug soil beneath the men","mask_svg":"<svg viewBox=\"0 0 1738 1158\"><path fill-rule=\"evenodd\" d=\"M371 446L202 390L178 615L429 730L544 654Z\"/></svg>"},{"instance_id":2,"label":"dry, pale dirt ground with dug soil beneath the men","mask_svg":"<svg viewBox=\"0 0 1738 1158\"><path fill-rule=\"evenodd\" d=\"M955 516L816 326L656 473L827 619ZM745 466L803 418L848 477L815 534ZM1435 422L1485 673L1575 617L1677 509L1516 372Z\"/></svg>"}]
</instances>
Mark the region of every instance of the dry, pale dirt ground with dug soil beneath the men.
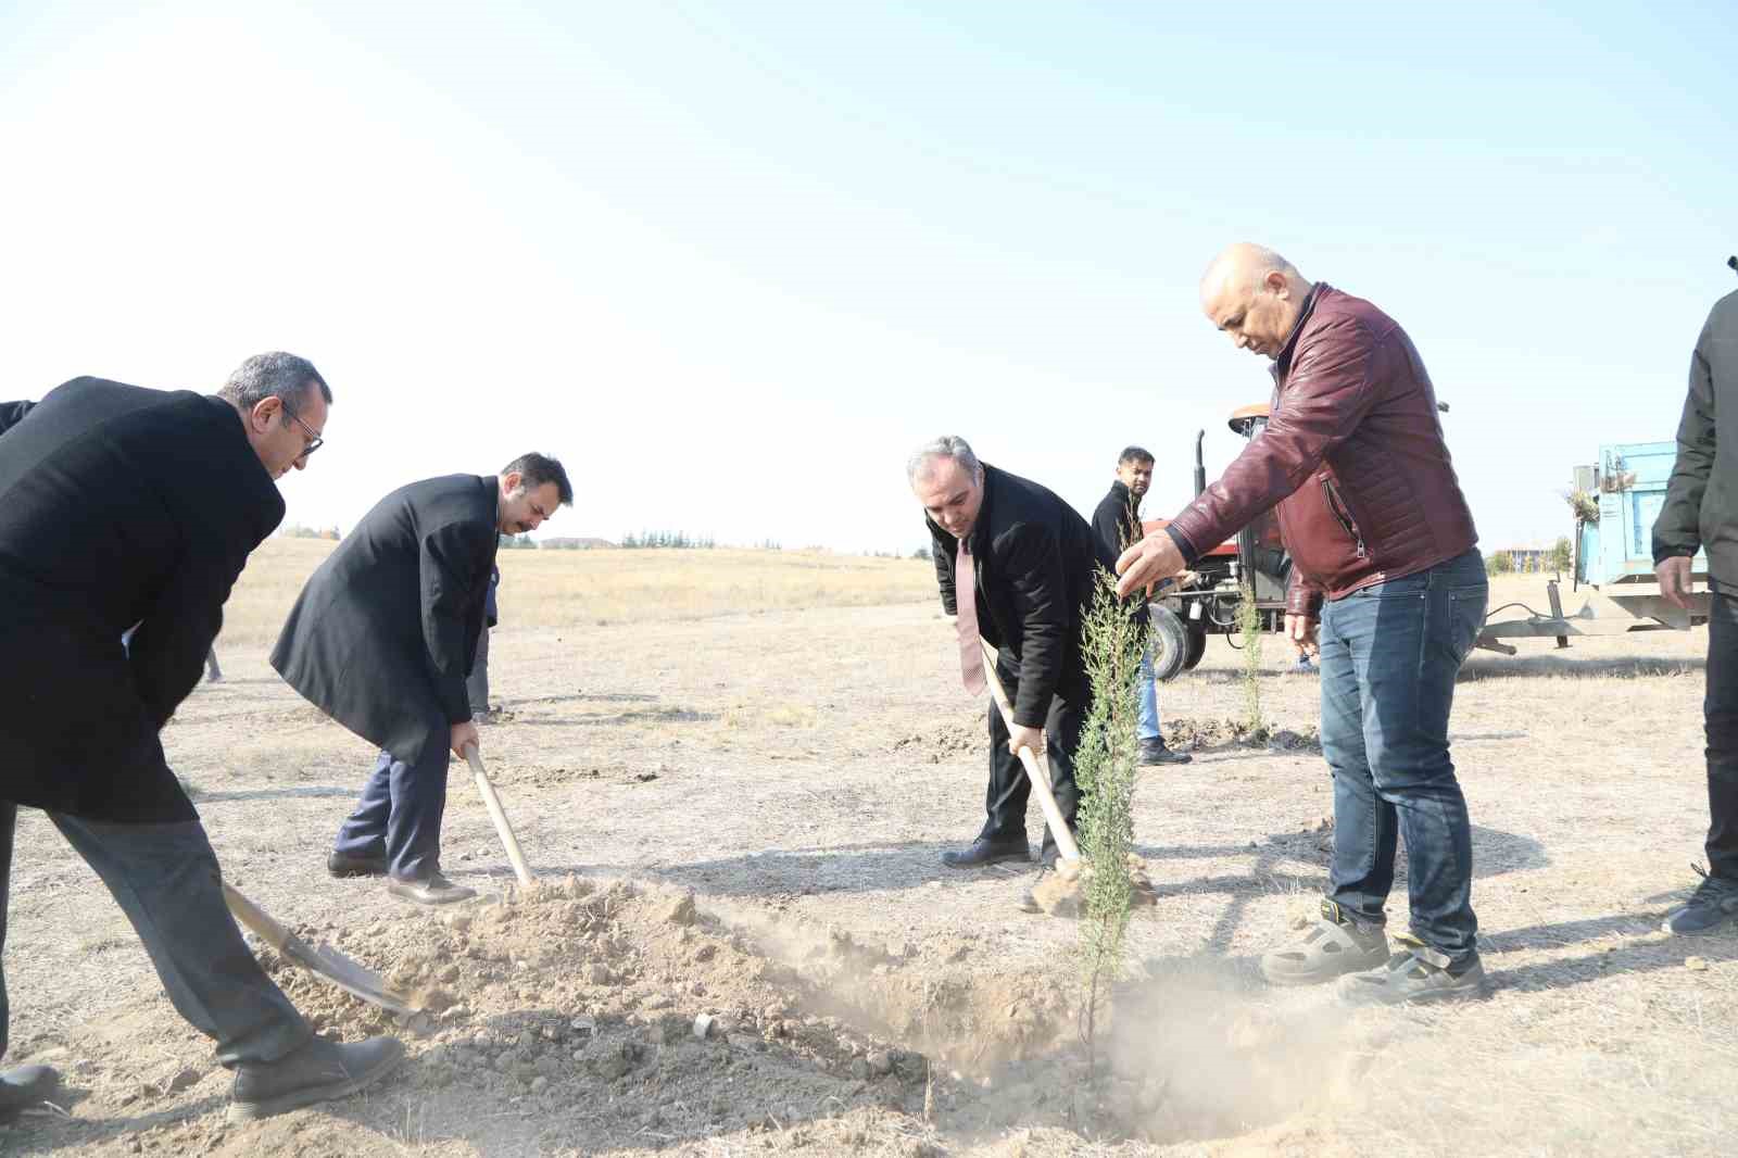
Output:
<instances>
[{"instance_id":1,"label":"dry, pale dirt ground with dug soil beneath the men","mask_svg":"<svg viewBox=\"0 0 1738 1158\"><path fill-rule=\"evenodd\" d=\"M209 1043L24 812L7 1061L54 1061L70 1092L66 1116L0 1127L0 1151L1733 1153L1738 935L1656 932L1707 824L1705 631L1467 664L1453 739L1496 989L1422 1012L1258 982L1255 958L1326 876L1317 682L1270 643L1264 706L1286 735L1237 741L1243 657L1215 642L1163 689L1196 758L1138 788L1158 906L1135 916L1100 1040L1112 1076L1088 1087L1076 925L1017 909L1031 871L939 862L982 817L984 727L932 598L547 628L507 563L492 671L509 718L483 735L547 882L530 895L507 897L459 765L445 864L494 901L431 915L327 878L372 753L275 678L259 636L224 645L228 682L165 734L235 883L428 995L398 1028L405 1068L365 1097L228 1125ZM930 582L900 574L911 595ZM1536 582L1500 593L1542 603ZM1036 809L1032 824L1036 840ZM1390 915L1404 928L1404 876ZM389 1026L266 956L327 1033Z\"/></svg>"}]
</instances>

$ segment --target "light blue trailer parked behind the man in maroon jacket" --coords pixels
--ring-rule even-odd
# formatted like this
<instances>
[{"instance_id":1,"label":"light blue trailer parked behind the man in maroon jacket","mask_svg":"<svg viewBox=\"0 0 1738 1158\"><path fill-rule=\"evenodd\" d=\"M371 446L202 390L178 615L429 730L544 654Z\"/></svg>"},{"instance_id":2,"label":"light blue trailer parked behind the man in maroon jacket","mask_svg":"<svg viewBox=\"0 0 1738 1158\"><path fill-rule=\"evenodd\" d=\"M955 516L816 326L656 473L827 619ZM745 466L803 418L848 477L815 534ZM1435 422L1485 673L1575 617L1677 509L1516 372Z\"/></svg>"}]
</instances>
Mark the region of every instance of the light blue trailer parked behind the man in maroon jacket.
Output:
<instances>
[{"instance_id":1,"label":"light blue trailer parked behind the man in maroon jacket","mask_svg":"<svg viewBox=\"0 0 1738 1158\"><path fill-rule=\"evenodd\" d=\"M1620 635L1672 628L1688 631L1708 621L1708 558L1696 555L1691 577L1702 591L1689 610L1660 595L1653 574L1653 523L1665 506L1665 487L1677 461L1675 442L1618 442L1599 447L1599 461L1575 468L1575 576L1573 589L1590 588L1616 603L1620 614L1601 610L1589 598L1573 616L1562 612L1557 582L1545 586L1549 612L1528 609L1524 619L1486 622L1479 647L1514 656L1505 638L1552 636L1568 647L1576 635ZM1498 609L1502 610L1502 609Z\"/></svg>"}]
</instances>

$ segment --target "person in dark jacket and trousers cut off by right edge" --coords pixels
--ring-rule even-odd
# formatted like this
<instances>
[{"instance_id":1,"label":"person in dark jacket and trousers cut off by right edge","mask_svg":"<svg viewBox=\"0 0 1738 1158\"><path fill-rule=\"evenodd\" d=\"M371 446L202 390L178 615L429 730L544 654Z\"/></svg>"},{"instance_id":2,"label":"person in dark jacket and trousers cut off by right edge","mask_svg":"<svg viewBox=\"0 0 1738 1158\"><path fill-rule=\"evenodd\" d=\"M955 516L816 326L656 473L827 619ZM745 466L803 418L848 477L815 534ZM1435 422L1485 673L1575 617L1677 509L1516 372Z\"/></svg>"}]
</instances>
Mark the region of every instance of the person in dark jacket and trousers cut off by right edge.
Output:
<instances>
[{"instance_id":1,"label":"person in dark jacket and trousers cut off by right edge","mask_svg":"<svg viewBox=\"0 0 1738 1158\"><path fill-rule=\"evenodd\" d=\"M1665 918L1705 934L1738 918L1738 294L1714 303L1689 358L1677 464L1653 523L1660 593L1689 609L1689 562L1708 553L1708 673L1702 701L1708 770L1708 871Z\"/></svg>"}]
</instances>

